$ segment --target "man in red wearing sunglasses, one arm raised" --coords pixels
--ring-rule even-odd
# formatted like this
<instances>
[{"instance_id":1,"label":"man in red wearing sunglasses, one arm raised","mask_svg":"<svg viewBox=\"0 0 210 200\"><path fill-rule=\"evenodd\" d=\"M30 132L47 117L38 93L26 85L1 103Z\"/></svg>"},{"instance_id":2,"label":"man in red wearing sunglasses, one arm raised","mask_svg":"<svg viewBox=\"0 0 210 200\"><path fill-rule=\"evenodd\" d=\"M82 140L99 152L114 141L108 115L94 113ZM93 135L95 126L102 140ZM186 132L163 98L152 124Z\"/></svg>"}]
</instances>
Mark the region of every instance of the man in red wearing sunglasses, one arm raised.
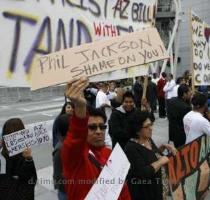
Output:
<instances>
[{"instance_id":1,"label":"man in red wearing sunglasses, one arm raised","mask_svg":"<svg viewBox=\"0 0 210 200\"><path fill-rule=\"evenodd\" d=\"M86 78L75 79L69 82L66 90L66 96L75 106L61 154L69 200L85 199L111 154L104 145L106 116L99 109L87 114L83 97L87 85ZM130 200L127 185L118 199Z\"/></svg>"}]
</instances>

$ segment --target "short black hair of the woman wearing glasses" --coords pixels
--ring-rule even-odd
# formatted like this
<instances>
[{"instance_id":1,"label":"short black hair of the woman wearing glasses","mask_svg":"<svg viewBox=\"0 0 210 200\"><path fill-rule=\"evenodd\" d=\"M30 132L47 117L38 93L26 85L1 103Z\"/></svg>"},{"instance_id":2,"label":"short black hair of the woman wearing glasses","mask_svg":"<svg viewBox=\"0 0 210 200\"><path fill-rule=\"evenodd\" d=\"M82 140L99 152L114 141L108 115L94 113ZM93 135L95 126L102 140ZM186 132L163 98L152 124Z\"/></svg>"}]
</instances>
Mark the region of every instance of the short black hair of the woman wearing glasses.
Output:
<instances>
[{"instance_id":1,"label":"short black hair of the woman wearing glasses","mask_svg":"<svg viewBox=\"0 0 210 200\"><path fill-rule=\"evenodd\" d=\"M147 120L151 119L151 115L147 111L136 110L133 112L127 120L126 129L129 133L130 138L138 138L138 132L143 127L143 123Z\"/></svg>"}]
</instances>

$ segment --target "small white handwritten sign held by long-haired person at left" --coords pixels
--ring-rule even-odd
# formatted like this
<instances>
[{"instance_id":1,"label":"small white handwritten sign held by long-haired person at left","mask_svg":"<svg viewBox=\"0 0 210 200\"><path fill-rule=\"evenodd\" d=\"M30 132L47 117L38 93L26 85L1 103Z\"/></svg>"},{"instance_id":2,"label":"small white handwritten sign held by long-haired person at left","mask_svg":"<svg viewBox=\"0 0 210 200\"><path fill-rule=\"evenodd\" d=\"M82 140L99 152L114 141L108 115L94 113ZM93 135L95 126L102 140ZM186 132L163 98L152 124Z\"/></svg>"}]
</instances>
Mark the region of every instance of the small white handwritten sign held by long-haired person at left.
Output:
<instances>
[{"instance_id":1,"label":"small white handwritten sign held by long-haired person at left","mask_svg":"<svg viewBox=\"0 0 210 200\"><path fill-rule=\"evenodd\" d=\"M27 147L50 142L47 123L39 123L28 129L23 129L3 136L9 156L23 152Z\"/></svg>"}]
</instances>

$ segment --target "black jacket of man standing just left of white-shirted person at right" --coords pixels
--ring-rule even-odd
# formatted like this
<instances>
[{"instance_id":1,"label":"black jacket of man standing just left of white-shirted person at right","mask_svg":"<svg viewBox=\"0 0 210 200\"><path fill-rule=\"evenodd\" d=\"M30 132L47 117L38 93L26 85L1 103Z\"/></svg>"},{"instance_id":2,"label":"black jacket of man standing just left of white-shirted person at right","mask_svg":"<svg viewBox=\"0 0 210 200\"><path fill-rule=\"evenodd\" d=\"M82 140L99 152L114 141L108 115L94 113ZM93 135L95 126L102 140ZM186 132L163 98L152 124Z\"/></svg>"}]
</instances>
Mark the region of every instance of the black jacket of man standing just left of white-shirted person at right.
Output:
<instances>
[{"instance_id":1,"label":"black jacket of man standing just left of white-shirted person at right","mask_svg":"<svg viewBox=\"0 0 210 200\"><path fill-rule=\"evenodd\" d=\"M179 97L174 97L168 102L169 140L174 142L175 147L185 144L183 118L190 111L190 104Z\"/></svg>"}]
</instances>

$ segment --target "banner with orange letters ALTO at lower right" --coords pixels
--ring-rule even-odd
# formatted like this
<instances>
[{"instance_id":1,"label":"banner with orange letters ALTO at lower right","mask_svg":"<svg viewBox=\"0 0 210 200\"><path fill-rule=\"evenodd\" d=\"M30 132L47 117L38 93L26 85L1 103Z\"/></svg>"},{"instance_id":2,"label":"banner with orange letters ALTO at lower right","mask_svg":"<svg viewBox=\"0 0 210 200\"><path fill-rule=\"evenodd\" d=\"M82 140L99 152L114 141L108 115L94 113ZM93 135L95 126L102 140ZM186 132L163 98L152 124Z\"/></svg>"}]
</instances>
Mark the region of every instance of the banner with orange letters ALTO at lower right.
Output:
<instances>
[{"instance_id":1,"label":"banner with orange letters ALTO at lower right","mask_svg":"<svg viewBox=\"0 0 210 200\"><path fill-rule=\"evenodd\" d=\"M169 157L168 175L174 200L202 199L210 186L210 137L203 135Z\"/></svg>"}]
</instances>

